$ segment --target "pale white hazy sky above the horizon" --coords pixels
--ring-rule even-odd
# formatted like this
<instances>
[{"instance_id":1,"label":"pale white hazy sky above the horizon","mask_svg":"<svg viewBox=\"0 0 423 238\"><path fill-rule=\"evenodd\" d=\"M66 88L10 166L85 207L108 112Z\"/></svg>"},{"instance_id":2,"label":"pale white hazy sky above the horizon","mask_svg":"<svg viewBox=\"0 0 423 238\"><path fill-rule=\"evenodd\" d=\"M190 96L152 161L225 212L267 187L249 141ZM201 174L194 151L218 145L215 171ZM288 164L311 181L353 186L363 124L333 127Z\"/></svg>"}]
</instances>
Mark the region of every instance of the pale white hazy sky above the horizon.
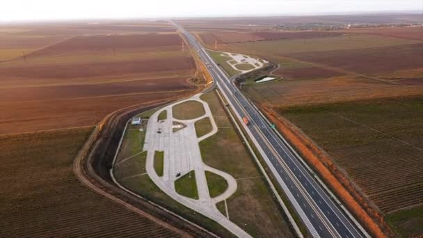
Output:
<instances>
[{"instance_id":1,"label":"pale white hazy sky above the horizon","mask_svg":"<svg viewBox=\"0 0 423 238\"><path fill-rule=\"evenodd\" d=\"M422 0L0 0L0 21L421 10Z\"/></svg>"}]
</instances>

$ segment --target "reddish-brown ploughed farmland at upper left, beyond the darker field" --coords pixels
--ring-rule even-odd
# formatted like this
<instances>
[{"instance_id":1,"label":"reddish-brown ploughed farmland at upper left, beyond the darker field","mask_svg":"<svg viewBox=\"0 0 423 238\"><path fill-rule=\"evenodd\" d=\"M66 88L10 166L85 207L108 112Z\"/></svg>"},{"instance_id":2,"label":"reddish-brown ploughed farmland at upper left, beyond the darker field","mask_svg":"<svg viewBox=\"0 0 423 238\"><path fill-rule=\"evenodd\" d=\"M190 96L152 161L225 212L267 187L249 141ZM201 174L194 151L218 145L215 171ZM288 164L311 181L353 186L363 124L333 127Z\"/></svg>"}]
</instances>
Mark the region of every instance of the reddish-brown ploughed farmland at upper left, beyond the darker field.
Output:
<instances>
[{"instance_id":1,"label":"reddish-brown ploughed farmland at upper left, beyond the darker field","mask_svg":"<svg viewBox=\"0 0 423 238\"><path fill-rule=\"evenodd\" d=\"M56 33L59 26L20 27L1 37L10 38L10 44L22 34L61 40L46 40L0 62L0 134L95 125L117 109L173 100L197 89L188 82L195 62L182 51L182 38L166 30L173 29L169 24L71 24ZM137 30L144 28L163 32ZM79 32L84 33L73 35ZM31 46L29 39L19 47Z\"/></svg>"}]
</instances>

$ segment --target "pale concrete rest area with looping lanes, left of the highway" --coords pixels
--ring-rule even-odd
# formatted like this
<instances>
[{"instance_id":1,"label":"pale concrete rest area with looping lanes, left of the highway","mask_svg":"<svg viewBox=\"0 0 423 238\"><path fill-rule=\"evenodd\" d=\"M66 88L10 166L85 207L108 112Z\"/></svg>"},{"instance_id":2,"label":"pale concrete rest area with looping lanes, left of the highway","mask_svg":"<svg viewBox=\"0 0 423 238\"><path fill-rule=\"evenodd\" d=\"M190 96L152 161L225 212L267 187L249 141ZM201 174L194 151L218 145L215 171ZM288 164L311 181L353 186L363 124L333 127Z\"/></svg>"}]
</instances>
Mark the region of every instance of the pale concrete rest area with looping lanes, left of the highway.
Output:
<instances>
[{"instance_id":1,"label":"pale concrete rest area with looping lanes, left of the highway","mask_svg":"<svg viewBox=\"0 0 423 238\"><path fill-rule=\"evenodd\" d=\"M237 237L250 237L244 230L239 228L236 224L232 223L226 216L221 214L216 208L216 203L228 199L235 191L237 191L237 181L232 175L225 173L216 168L212 168L203 163L201 158L200 147L198 143L209 136L216 134L218 131L216 122L212 116L209 105L200 100L200 95L194 95L193 97L170 104L163 109L155 112L147 124L147 132L145 135L144 150L147 151L146 170L152 181L157 184L162 191L168 196L177 200L177 202L190 207L195 212L198 212L204 216L209 217L221 224L224 228L230 230ZM204 109L205 114L199 118L193 120L177 120L173 118L172 108L176 104L180 104L189 100L200 102ZM161 111L166 110L168 116L166 120L158 122L158 116ZM212 132L197 137L195 133L195 122L203 118L209 118L212 122ZM173 132L173 122L180 122L186 125L183 129L179 129L177 132ZM157 133L160 130L161 133ZM164 151L164 164L163 164L163 176L159 177L154 170L154 152ZM179 195L175 191L175 180L177 178L186 175L189 171L195 170L195 181L198 189L198 200L192 198L186 198L185 196ZM205 171L216 173L228 181L228 189L221 195L211 198L209 188L207 186L207 180ZM180 173L179 176L177 174Z\"/></svg>"}]
</instances>

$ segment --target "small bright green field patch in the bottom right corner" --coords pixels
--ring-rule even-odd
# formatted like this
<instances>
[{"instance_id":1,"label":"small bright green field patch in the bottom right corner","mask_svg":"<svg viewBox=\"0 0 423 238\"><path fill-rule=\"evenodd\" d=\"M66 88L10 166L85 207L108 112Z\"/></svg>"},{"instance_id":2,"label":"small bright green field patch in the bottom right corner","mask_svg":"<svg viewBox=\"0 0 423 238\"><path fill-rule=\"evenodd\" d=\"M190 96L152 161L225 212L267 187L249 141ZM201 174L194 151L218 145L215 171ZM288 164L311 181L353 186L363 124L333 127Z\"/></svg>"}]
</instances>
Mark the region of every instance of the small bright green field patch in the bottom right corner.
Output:
<instances>
[{"instance_id":1,"label":"small bright green field patch in the bottom right corner","mask_svg":"<svg viewBox=\"0 0 423 238\"><path fill-rule=\"evenodd\" d=\"M387 220L401 237L423 234L423 206L394 212L387 216Z\"/></svg>"}]
</instances>

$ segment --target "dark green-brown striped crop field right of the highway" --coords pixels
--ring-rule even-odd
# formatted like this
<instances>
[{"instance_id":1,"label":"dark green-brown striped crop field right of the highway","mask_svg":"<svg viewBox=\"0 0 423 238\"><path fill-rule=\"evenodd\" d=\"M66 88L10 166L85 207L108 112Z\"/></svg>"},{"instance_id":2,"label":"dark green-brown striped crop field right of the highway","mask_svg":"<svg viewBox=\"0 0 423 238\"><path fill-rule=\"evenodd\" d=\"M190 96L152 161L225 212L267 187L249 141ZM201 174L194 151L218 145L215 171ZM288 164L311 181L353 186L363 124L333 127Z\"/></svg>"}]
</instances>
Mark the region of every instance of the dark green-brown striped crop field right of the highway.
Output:
<instances>
[{"instance_id":1,"label":"dark green-brown striped crop field right of the highway","mask_svg":"<svg viewBox=\"0 0 423 238\"><path fill-rule=\"evenodd\" d=\"M422 109L420 95L288 106L280 114L328 152L389 218L423 203Z\"/></svg>"}]
</instances>

